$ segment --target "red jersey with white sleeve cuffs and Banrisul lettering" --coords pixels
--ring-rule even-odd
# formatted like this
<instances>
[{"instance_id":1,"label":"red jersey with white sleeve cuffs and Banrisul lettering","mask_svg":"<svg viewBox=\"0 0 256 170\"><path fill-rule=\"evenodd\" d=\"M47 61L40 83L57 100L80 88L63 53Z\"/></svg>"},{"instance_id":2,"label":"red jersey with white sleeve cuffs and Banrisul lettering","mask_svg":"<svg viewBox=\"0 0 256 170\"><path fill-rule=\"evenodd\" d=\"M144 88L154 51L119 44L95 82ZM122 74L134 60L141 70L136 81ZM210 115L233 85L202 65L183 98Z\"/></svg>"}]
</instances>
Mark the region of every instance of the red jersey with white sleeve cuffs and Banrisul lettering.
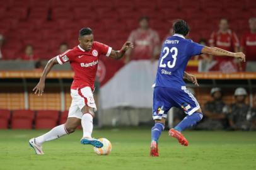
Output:
<instances>
[{"instance_id":1,"label":"red jersey with white sleeve cuffs and Banrisul lettering","mask_svg":"<svg viewBox=\"0 0 256 170\"><path fill-rule=\"evenodd\" d=\"M71 85L71 89L80 89L89 86L93 91L98 67L98 57L100 55L106 55L108 57L111 50L111 47L103 43L93 42L89 52L86 52L78 45L61 55L57 55L59 64L70 62L74 71L74 81Z\"/></svg>"}]
</instances>

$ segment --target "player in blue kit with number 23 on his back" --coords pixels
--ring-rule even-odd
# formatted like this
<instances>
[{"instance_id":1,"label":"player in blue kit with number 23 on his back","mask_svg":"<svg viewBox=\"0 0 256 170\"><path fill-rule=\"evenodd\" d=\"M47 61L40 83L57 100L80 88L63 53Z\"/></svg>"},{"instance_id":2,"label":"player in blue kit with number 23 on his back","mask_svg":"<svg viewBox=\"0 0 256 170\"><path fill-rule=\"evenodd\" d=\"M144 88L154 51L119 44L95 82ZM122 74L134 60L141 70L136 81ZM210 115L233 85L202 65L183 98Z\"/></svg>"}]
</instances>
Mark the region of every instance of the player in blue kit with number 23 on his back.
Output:
<instances>
[{"instance_id":1,"label":"player in blue kit with number 23 on his back","mask_svg":"<svg viewBox=\"0 0 256 170\"><path fill-rule=\"evenodd\" d=\"M169 130L169 135L175 137L180 144L187 146L189 142L182 135L182 131L192 127L202 120L202 110L197 99L186 88L183 77L197 84L196 78L185 71L190 57L199 54L230 56L245 62L245 54L233 53L216 47L206 47L188 40L189 26L183 20L173 23L173 36L163 43L158 62L158 71L153 93L153 120L151 130L150 156L159 156L158 139L165 128L165 120L170 108L181 108L187 116L175 128ZM198 85L198 84L197 84Z\"/></svg>"}]
</instances>

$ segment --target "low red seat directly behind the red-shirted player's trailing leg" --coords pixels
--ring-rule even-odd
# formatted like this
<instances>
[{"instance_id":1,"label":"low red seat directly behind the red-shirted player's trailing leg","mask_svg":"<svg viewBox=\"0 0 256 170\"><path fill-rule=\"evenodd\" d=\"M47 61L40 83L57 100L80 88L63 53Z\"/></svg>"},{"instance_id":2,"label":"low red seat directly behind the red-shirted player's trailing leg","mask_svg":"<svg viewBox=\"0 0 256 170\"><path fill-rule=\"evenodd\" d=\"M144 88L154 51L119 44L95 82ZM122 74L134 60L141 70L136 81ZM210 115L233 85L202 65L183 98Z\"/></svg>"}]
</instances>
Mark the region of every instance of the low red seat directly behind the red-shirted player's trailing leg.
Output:
<instances>
[{"instance_id":1,"label":"low red seat directly behind the red-shirted player's trailing leg","mask_svg":"<svg viewBox=\"0 0 256 170\"><path fill-rule=\"evenodd\" d=\"M59 111L56 110L39 110L35 118L35 128L53 128L57 125Z\"/></svg>"}]
</instances>

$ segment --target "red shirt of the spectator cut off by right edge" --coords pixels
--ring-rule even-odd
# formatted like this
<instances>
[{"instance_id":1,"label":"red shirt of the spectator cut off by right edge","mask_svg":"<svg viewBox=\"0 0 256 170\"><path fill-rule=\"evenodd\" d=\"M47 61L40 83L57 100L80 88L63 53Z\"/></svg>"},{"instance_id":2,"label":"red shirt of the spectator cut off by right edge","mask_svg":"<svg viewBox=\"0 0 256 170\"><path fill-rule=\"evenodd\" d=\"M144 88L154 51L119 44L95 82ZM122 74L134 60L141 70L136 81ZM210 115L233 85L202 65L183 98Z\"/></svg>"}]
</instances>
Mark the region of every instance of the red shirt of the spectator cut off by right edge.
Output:
<instances>
[{"instance_id":1,"label":"red shirt of the spectator cut off by right edge","mask_svg":"<svg viewBox=\"0 0 256 170\"><path fill-rule=\"evenodd\" d=\"M245 33L241 38L241 47L245 50L246 60L256 60L256 33Z\"/></svg>"}]
</instances>

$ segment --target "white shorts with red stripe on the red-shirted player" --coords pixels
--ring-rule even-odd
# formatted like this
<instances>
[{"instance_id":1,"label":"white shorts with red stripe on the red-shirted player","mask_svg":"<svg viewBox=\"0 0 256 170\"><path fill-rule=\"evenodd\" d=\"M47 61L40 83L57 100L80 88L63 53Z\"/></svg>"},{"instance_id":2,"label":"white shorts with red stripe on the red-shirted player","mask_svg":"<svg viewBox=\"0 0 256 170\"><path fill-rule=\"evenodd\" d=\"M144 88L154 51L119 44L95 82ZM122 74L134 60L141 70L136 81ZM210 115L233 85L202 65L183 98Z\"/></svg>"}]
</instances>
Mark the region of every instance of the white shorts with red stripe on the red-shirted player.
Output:
<instances>
[{"instance_id":1,"label":"white shorts with red stripe on the red-shirted player","mask_svg":"<svg viewBox=\"0 0 256 170\"><path fill-rule=\"evenodd\" d=\"M72 102L69 108L68 118L82 118L82 108L84 106L89 106L97 110L95 101L93 98L93 93L90 87L85 87L82 89L71 89Z\"/></svg>"}]
</instances>

